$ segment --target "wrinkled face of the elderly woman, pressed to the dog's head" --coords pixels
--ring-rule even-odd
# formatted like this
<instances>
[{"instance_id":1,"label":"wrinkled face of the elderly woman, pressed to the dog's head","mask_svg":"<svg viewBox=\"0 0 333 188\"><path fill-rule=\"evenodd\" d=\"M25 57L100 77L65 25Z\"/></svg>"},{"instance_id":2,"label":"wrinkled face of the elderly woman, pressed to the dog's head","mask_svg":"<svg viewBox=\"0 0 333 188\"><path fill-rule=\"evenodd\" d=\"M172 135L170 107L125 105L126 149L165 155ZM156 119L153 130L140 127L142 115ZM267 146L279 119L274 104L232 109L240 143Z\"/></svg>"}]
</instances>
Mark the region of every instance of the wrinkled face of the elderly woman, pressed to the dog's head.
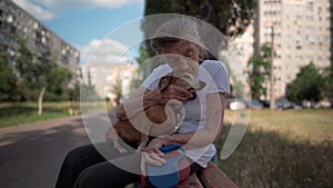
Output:
<instances>
[{"instance_id":1,"label":"wrinkled face of the elderly woman, pressed to the dog's head","mask_svg":"<svg viewBox=\"0 0 333 188\"><path fill-rule=\"evenodd\" d=\"M174 72L183 72L195 76L199 69L200 50L193 42L180 40L163 50L165 61Z\"/></svg>"}]
</instances>

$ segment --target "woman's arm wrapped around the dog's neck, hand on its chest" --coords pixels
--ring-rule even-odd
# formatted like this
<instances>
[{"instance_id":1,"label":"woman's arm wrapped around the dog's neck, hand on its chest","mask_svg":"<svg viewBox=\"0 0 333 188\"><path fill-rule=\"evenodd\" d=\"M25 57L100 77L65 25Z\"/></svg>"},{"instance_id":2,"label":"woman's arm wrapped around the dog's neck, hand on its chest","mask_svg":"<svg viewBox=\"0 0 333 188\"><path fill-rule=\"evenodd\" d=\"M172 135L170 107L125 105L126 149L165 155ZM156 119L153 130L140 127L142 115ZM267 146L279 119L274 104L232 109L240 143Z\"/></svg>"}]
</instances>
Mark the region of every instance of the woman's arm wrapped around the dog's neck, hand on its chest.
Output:
<instances>
[{"instance_id":1,"label":"woman's arm wrapped around the dog's neck, hand on its chest","mask_svg":"<svg viewBox=\"0 0 333 188\"><path fill-rule=\"evenodd\" d=\"M115 116L120 120L125 120L138 112L154 106L165 105L171 99L185 101L192 93L184 88L171 85L165 91L161 92L158 88L149 90L144 87L137 89L122 105L117 107Z\"/></svg>"}]
</instances>

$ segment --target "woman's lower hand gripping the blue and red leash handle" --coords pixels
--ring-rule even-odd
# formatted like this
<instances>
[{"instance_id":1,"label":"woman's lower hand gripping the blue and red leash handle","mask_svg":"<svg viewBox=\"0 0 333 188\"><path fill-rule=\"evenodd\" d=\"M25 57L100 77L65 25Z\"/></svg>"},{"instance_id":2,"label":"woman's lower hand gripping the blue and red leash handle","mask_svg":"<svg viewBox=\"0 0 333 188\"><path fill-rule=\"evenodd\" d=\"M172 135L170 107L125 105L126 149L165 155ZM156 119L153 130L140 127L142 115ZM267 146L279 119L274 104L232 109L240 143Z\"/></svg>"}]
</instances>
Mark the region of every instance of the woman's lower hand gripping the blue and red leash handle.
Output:
<instances>
[{"instance_id":1,"label":"woman's lower hand gripping the blue and red leash handle","mask_svg":"<svg viewBox=\"0 0 333 188\"><path fill-rule=\"evenodd\" d=\"M167 161L163 159L163 152L160 151L160 148L168 145L168 140L164 138L157 137L149 146L141 152L141 170L143 176L145 176L145 165L152 166L162 166Z\"/></svg>"}]
</instances>

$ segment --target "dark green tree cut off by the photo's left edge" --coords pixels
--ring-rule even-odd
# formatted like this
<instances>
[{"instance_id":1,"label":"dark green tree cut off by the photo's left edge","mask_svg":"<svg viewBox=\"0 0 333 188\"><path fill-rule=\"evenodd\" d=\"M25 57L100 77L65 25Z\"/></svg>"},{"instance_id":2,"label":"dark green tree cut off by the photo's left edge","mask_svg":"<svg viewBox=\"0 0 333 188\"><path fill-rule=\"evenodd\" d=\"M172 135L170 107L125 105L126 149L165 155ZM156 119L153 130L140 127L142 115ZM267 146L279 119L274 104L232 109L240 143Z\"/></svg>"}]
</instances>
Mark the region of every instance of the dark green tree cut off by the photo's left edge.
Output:
<instances>
[{"instance_id":1,"label":"dark green tree cut off by the photo's left edge","mask_svg":"<svg viewBox=\"0 0 333 188\"><path fill-rule=\"evenodd\" d=\"M9 100L17 88L17 77L8 66L8 57L0 55L0 101Z\"/></svg>"}]
</instances>

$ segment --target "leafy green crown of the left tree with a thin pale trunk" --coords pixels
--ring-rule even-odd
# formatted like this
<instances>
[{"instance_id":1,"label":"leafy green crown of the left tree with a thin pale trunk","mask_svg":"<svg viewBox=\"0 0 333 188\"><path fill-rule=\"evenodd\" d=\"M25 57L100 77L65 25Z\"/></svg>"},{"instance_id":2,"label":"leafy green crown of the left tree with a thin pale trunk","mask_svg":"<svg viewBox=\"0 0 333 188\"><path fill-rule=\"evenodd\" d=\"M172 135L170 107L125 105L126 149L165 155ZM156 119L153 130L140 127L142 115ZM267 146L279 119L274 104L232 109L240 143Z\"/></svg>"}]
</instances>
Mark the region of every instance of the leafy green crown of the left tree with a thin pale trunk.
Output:
<instances>
[{"instance_id":1,"label":"leafy green crown of the left tree with a thin pale trunk","mask_svg":"<svg viewBox=\"0 0 333 188\"><path fill-rule=\"evenodd\" d=\"M41 89L46 87L46 100L68 100L70 98L68 83L72 79L72 72L57 65L50 51L37 56L28 49L24 40L18 40L18 43L20 55L16 59L16 69L19 73L18 86L21 98L37 100Z\"/></svg>"}]
</instances>

